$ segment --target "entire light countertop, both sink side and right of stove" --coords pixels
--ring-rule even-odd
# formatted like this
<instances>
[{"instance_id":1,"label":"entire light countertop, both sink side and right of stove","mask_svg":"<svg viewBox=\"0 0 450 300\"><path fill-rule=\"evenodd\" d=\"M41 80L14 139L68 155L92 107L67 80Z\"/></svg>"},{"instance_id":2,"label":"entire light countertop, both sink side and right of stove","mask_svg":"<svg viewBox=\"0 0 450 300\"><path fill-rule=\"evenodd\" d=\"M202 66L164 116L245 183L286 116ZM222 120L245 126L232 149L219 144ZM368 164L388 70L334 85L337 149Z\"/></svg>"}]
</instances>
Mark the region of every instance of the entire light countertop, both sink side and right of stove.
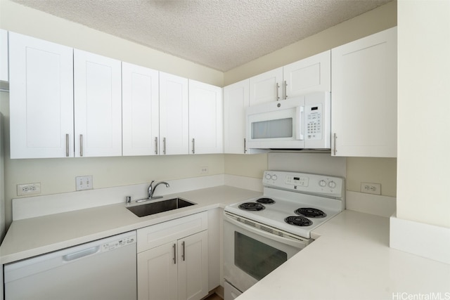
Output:
<instances>
[{"instance_id":1,"label":"entire light countertop, both sink side and right of stove","mask_svg":"<svg viewBox=\"0 0 450 300\"><path fill-rule=\"evenodd\" d=\"M262 193L222 185L166 195L167 199L183 197L197 205L142 218L128 211L125 204L112 204L13 221L0 247L1 263L259 195ZM388 218L346 210L316 228L312 237L316 239L314 242L238 300L450 300L450 265L390 248ZM425 237L418 238L426 242Z\"/></svg>"}]
</instances>

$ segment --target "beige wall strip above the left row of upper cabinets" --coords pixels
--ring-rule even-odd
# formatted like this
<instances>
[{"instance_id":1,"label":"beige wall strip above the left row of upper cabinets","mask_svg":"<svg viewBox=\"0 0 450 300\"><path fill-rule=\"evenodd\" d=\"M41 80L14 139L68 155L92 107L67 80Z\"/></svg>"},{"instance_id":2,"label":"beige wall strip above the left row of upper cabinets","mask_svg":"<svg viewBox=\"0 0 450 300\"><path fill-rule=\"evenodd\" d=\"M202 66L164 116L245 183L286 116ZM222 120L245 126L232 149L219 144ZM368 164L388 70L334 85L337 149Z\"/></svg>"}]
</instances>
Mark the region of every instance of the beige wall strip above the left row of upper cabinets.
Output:
<instances>
[{"instance_id":1,"label":"beige wall strip above the left row of upper cabinets","mask_svg":"<svg viewBox=\"0 0 450 300\"><path fill-rule=\"evenodd\" d=\"M84 25L9 0L0 0L0 28L207 84L223 86L224 74L222 72L92 30Z\"/></svg>"}]
</instances>

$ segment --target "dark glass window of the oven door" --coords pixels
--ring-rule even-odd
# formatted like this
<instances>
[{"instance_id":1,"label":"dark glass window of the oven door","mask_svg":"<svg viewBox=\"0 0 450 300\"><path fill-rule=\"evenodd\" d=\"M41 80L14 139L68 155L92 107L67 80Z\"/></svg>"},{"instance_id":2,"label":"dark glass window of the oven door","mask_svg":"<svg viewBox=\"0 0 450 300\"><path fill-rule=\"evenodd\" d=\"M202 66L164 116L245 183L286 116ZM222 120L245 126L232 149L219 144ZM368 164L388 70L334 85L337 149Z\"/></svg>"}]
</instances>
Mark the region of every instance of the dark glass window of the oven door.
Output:
<instances>
[{"instance_id":1,"label":"dark glass window of the oven door","mask_svg":"<svg viewBox=\"0 0 450 300\"><path fill-rule=\"evenodd\" d=\"M288 260L288 254L234 232L234 264L256 280L262 279Z\"/></svg>"}]
</instances>

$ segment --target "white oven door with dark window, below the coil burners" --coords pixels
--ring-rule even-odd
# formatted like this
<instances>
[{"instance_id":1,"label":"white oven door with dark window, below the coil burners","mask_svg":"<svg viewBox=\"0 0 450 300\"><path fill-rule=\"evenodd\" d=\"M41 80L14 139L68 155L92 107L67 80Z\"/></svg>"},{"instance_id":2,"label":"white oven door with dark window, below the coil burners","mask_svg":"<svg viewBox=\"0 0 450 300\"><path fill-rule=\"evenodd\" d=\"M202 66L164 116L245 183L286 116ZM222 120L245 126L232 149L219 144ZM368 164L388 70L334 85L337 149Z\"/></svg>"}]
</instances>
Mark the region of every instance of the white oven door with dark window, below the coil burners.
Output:
<instances>
[{"instance_id":1,"label":"white oven door with dark window, below the coil burners","mask_svg":"<svg viewBox=\"0 0 450 300\"><path fill-rule=\"evenodd\" d=\"M240 292L245 292L309 242L307 239L281 237L248 226L225 214L224 278Z\"/></svg>"}]
</instances>

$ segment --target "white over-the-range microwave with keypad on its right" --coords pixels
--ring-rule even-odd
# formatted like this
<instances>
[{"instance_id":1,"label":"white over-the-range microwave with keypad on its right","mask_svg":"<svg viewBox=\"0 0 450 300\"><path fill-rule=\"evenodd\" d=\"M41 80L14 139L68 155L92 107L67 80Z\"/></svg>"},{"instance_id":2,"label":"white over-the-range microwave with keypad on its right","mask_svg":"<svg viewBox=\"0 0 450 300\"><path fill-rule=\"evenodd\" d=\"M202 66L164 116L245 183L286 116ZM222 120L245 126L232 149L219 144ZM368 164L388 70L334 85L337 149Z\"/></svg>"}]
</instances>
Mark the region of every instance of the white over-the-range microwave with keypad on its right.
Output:
<instances>
[{"instance_id":1,"label":"white over-the-range microwave with keypad on its right","mask_svg":"<svg viewBox=\"0 0 450 300\"><path fill-rule=\"evenodd\" d=\"M247 148L330 150L330 92L247 108Z\"/></svg>"}]
</instances>

